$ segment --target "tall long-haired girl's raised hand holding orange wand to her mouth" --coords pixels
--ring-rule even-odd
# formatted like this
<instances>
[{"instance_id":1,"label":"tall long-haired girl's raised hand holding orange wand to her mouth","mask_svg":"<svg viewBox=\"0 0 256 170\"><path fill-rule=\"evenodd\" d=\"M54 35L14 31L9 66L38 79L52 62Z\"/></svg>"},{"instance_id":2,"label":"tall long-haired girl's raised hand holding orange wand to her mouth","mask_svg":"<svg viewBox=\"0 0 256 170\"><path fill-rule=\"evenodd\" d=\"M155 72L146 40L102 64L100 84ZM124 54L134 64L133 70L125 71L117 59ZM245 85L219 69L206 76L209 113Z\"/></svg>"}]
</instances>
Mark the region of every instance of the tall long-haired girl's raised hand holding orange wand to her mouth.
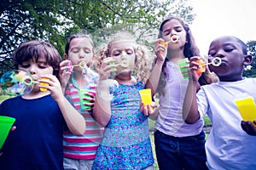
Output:
<instances>
[{"instance_id":1,"label":"tall long-haired girl's raised hand holding orange wand to her mouth","mask_svg":"<svg viewBox=\"0 0 256 170\"><path fill-rule=\"evenodd\" d=\"M155 42L154 53L157 59L160 61L165 61L167 54L167 44L164 39L160 38Z\"/></svg>"}]
</instances>

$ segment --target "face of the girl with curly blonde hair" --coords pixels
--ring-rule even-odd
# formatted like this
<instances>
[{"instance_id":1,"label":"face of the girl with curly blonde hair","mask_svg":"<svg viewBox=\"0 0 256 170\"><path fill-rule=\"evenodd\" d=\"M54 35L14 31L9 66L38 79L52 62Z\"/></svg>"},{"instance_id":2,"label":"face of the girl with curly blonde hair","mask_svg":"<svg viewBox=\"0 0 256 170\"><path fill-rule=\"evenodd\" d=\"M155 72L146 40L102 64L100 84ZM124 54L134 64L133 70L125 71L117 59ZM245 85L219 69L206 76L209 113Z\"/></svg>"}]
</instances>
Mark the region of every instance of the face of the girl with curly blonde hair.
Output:
<instances>
[{"instance_id":1,"label":"face of the girl with curly blonde hair","mask_svg":"<svg viewBox=\"0 0 256 170\"><path fill-rule=\"evenodd\" d=\"M113 42L109 53L115 60L117 74L123 71L131 71L135 62L134 42ZM123 64L123 65L122 65ZM124 65L125 64L125 65Z\"/></svg>"}]
</instances>

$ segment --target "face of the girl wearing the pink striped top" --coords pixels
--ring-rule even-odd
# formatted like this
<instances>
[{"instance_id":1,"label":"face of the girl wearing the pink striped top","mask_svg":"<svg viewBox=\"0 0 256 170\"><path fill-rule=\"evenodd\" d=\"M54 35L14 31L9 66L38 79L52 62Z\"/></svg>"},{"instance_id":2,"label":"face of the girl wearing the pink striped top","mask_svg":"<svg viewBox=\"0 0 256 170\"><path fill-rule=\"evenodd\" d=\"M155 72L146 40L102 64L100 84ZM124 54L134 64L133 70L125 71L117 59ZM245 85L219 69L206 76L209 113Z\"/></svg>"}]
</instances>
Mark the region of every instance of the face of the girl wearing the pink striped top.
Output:
<instances>
[{"instance_id":1,"label":"face of the girl wearing the pink striped top","mask_svg":"<svg viewBox=\"0 0 256 170\"><path fill-rule=\"evenodd\" d=\"M70 42L67 59L71 60L72 65L79 65L79 62L85 61L87 66L90 66L93 55L93 47L89 38L74 38ZM81 69L79 66L74 67L74 70L81 71Z\"/></svg>"}]
</instances>

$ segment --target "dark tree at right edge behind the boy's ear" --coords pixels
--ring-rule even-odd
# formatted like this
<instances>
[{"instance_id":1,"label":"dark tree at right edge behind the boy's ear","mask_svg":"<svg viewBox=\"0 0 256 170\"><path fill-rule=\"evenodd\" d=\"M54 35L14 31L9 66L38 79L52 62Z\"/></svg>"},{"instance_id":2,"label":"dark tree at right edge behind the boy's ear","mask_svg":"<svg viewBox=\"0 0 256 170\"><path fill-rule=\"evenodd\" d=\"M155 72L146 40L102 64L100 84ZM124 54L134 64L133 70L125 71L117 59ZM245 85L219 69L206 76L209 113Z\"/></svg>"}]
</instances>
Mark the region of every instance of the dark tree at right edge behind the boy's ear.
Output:
<instances>
[{"instance_id":1,"label":"dark tree at right edge behind the boy's ear","mask_svg":"<svg viewBox=\"0 0 256 170\"><path fill-rule=\"evenodd\" d=\"M253 55L253 63L243 72L244 77L256 77L256 41L247 42L248 53Z\"/></svg>"}]
</instances>

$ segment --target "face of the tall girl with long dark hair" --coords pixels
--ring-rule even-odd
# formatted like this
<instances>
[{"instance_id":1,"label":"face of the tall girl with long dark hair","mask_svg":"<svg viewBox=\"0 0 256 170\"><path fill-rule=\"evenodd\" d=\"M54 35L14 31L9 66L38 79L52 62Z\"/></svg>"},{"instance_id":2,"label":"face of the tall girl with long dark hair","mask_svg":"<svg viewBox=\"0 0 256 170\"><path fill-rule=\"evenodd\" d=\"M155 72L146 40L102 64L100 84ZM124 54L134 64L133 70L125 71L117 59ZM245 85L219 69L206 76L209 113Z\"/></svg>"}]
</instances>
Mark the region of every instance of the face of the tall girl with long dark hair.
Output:
<instances>
[{"instance_id":1,"label":"face of the tall girl with long dark hair","mask_svg":"<svg viewBox=\"0 0 256 170\"><path fill-rule=\"evenodd\" d=\"M186 43L186 31L178 20L172 19L165 23L162 28L162 38L168 42L173 35L177 35L178 41L175 43L169 42L168 48L180 48Z\"/></svg>"}]
</instances>

